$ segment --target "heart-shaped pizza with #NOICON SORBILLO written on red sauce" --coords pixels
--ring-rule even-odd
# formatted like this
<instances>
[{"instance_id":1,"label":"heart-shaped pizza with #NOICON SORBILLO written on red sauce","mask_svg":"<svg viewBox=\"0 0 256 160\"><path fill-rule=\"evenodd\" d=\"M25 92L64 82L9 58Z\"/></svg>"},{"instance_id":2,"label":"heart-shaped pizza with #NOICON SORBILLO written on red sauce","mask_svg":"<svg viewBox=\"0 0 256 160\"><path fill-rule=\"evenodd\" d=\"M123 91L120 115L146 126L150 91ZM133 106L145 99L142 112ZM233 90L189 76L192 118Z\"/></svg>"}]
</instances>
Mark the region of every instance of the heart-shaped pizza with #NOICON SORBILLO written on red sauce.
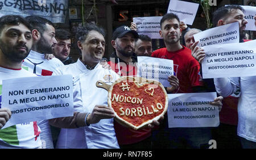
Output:
<instances>
[{"instance_id":1,"label":"heart-shaped pizza with #NOICON SORBILLO written on red sauce","mask_svg":"<svg viewBox=\"0 0 256 160\"><path fill-rule=\"evenodd\" d=\"M109 87L108 104L115 112L115 120L139 129L166 113L168 96L158 81L122 77Z\"/></svg>"}]
</instances>

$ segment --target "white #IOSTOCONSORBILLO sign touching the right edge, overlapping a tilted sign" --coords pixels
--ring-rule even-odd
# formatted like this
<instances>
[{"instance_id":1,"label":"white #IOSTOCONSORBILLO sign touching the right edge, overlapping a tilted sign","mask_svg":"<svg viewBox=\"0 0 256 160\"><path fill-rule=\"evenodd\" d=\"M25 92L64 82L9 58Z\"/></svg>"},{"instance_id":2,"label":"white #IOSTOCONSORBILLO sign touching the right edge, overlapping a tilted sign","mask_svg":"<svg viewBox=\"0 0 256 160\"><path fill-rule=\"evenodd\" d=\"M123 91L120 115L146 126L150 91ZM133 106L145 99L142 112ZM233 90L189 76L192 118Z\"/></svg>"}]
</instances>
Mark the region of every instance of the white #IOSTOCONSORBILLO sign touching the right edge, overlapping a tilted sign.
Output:
<instances>
[{"instance_id":1,"label":"white #IOSTOCONSORBILLO sign touching the right edge, overlapping a tilted sign","mask_svg":"<svg viewBox=\"0 0 256 160\"><path fill-rule=\"evenodd\" d=\"M244 77L256 75L256 40L246 43L202 47L203 78Z\"/></svg>"}]
</instances>

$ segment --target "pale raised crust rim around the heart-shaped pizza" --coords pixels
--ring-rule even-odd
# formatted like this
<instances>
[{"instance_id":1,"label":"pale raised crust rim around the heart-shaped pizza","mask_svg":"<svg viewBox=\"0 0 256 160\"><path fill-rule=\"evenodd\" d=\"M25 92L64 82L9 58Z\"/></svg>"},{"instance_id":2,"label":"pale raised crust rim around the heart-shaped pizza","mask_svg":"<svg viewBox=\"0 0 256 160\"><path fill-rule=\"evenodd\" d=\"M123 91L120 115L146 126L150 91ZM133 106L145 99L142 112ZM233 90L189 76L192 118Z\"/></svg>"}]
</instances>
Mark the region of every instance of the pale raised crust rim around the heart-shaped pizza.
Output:
<instances>
[{"instance_id":1,"label":"pale raised crust rim around the heart-shaped pizza","mask_svg":"<svg viewBox=\"0 0 256 160\"><path fill-rule=\"evenodd\" d=\"M151 82L157 82L157 83L159 84L159 86L160 86L160 87L163 89L163 91L164 91L164 95L165 95L165 98L166 98L166 104L165 104L165 106L164 106L164 111L163 111L160 115L154 117L154 119L151 119L151 120L148 120L148 121L142 123L142 124L139 125L139 126L135 126L135 125L133 125L133 124L131 124L131 123L129 123L129 122L123 120L119 115L117 115L116 112L114 112L114 114L115 114L115 120L116 120L118 123L120 123L121 125L123 125L123 126L125 126L125 127L127 127L127 126L128 126L128 127L131 127L131 128L133 128L133 129L135 129L135 130L140 129L140 128L142 128L142 127L148 125L148 124L151 124L153 120L158 121L158 120L160 119L160 117L161 117L162 115L164 115L164 114L166 113L166 111L167 111L167 108L168 108L168 95L167 95L167 92L166 92L166 90L164 89L162 83L160 83L160 82L158 82L158 81L155 81L155 80L145 79L145 78L141 78L141 77L121 77L121 78L118 78L114 83L112 83L112 85L110 86L110 89L109 89L109 94L108 94L108 104L109 104L109 107L111 107L111 108L113 109L113 107L112 107L112 105L111 105L111 104L112 104L112 102L111 102L111 95L112 95L112 91L113 91L113 86L114 86L115 84L119 83L119 82L122 82L123 80L125 80L125 79L127 79L127 78L130 79L131 81L133 81L133 79L137 79L137 82L138 82L138 81L144 81L144 82L138 83L138 84L135 83L136 85L144 85L144 84L151 83ZM113 110L114 110L114 109L113 109Z\"/></svg>"}]
</instances>

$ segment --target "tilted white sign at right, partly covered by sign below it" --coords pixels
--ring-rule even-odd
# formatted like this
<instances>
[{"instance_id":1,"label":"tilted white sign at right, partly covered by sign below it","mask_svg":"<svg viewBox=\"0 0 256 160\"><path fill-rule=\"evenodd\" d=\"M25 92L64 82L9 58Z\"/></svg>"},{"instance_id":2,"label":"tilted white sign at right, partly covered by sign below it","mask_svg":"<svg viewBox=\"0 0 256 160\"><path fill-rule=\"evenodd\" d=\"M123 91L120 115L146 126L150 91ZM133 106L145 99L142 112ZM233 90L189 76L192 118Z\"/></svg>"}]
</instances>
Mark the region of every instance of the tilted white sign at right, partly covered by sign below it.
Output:
<instances>
[{"instance_id":1,"label":"tilted white sign at right, partly covered by sign below it","mask_svg":"<svg viewBox=\"0 0 256 160\"><path fill-rule=\"evenodd\" d=\"M193 36L195 41L199 41L197 44L199 47L213 44L239 43L239 24L235 22L210 28Z\"/></svg>"}]
</instances>

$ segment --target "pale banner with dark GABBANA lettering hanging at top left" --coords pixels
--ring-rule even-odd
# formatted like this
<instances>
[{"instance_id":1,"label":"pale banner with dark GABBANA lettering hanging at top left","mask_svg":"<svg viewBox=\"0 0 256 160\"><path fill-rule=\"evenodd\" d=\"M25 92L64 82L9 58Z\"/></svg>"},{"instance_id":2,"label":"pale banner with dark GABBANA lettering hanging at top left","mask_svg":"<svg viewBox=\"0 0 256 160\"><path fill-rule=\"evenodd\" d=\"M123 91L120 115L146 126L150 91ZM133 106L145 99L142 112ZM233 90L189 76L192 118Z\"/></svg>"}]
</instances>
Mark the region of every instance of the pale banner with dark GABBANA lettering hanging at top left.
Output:
<instances>
[{"instance_id":1,"label":"pale banner with dark GABBANA lettering hanging at top left","mask_svg":"<svg viewBox=\"0 0 256 160\"><path fill-rule=\"evenodd\" d=\"M0 13L3 15L37 15L53 23L64 23L68 14L68 0L5 0L0 2Z\"/></svg>"}]
</instances>

